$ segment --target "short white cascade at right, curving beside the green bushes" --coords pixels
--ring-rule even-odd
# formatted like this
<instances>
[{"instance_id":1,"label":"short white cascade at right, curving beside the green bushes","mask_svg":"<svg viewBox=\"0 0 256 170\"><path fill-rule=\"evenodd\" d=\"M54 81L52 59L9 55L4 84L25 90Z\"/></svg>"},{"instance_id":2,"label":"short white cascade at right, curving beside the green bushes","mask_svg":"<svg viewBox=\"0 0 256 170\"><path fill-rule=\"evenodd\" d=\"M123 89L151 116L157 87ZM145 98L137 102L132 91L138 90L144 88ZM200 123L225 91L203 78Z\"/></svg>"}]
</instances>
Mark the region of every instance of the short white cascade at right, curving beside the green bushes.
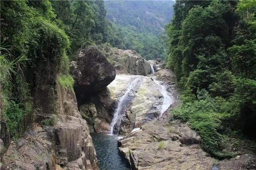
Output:
<instances>
[{"instance_id":1,"label":"short white cascade at right, curving beside the green bushes","mask_svg":"<svg viewBox=\"0 0 256 170\"><path fill-rule=\"evenodd\" d=\"M170 107L170 105L172 105L173 98L171 97L171 95L169 94L169 92L166 90L166 87L163 85L163 82L159 81L159 80L154 80L154 82L159 85L160 87L160 93L163 95L163 104L161 107L161 111L160 111L160 116L161 117L163 115L163 113Z\"/></svg>"}]
</instances>

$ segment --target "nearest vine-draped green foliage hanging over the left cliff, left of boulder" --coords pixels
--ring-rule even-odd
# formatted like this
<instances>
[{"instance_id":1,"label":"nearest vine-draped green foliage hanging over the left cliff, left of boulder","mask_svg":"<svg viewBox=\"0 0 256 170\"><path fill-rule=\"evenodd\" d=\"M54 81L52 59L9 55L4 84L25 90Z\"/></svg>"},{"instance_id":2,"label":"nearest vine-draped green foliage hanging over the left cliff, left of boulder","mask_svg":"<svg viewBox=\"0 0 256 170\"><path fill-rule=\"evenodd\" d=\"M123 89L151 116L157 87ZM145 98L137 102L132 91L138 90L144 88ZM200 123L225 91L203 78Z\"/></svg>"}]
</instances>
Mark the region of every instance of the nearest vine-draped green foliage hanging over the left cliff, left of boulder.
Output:
<instances>
[{"instance_id":1,"label":"nearest vine-draped green foliage hanging over the left cliff, left of boulder","mask_svg":"<svg viewBox=\"0 0 256 170\"><path fill-rule=\"evenodd\" d=\"M0 3L0 33L5 43L0 47L0 102L7 129L16 139L31 121L33 103L41 107L38 99L44 97L45 87L55 83L57 73L68 74L65 53L70 41L51 21L55 14L49 1Z\"/></svg>"}]
</instances>

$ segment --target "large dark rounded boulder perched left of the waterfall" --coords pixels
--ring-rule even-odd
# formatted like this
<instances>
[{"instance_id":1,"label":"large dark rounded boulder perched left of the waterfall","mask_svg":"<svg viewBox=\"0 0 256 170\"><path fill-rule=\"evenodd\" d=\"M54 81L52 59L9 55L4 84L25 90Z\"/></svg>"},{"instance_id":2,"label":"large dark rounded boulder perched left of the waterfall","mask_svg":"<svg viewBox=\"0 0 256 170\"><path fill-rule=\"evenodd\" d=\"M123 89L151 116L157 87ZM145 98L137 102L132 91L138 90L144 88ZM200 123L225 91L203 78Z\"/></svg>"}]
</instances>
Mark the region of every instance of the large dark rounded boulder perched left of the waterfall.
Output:
<instances>
[{"instance_id":1,"label":"large dark rounded boulder perched left of the waterfall","mask_svg":"<svg viewBox=\"0 0 256 170\"><path fill-rule=\"evenodd\" d=\"M116 77L113 65L94 46L79 51L76 61L70 64L70 71L79 95L99 92Z\"/></svg>"}]
</instances>

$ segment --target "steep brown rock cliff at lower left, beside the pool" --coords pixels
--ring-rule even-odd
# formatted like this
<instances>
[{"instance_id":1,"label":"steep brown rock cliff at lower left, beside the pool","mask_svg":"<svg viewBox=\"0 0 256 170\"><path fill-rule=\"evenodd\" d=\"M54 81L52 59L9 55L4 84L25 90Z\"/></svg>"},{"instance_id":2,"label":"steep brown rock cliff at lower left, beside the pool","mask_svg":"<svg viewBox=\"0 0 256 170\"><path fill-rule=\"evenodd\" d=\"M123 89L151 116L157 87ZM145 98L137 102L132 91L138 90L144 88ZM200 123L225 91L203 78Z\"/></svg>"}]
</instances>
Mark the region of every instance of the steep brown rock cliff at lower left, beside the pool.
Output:
<instances>
[{"instance_id":1,"label":"steep brown rock cliff at lower left, beside the pool","mask_svg":"<svg viewBox=\"0 0 256 170\"><path fill-rule=\"evenodd\" d=\"M69 88L55 88L55 114L35 115L50 125L33 123L24 136L10 144L3 156L7 170L98 170L87 122Z\"/></svg>"}]
</instances>

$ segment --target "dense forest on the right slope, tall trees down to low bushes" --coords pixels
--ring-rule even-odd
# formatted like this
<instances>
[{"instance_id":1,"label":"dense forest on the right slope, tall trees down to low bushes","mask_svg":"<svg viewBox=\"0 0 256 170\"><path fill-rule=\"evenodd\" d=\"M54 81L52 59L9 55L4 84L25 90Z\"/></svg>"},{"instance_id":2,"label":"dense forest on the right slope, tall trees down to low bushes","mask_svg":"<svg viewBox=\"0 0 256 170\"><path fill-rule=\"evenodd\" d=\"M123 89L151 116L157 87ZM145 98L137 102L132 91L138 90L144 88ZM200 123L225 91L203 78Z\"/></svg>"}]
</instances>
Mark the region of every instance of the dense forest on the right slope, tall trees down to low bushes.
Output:
<instances>
[{"instance_id":1,"label":"dense forest on the right slope, tall trees down to low bushes","mask_svg":"<svg viewBox=\"0 0 256 170\"><path fill-rule=\"evenodd\" d=\"M183 88L174 117L189 121L214 156L253 150L256 1L177 1L166 28L168 68ZM230 144L239 149L227 149Z\"/></svg>"}]
</instances>

